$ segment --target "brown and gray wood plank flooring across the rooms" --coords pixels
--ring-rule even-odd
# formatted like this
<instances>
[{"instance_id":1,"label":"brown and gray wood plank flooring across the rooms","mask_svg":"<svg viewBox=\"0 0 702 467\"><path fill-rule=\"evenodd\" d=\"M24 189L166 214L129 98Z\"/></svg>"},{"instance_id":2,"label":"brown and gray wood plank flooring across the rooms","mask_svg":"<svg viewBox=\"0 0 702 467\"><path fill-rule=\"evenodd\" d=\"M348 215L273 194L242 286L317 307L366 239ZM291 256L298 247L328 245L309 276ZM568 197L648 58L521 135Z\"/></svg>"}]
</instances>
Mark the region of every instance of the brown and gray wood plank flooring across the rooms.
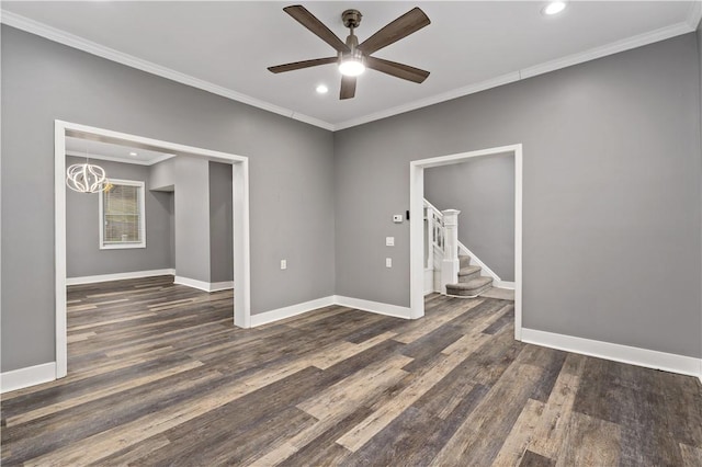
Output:
<instances>
[{"instance_id":1,"label":"brown and gray wood plank flooring across the rooms","mask_svg":"<svg viewBox=\"0 0 702 467\"><path fill-rule=\"evenodd\" d=\"M513 303L233 327L171 276L72 286L69 376L2 396L2 465L702 466L702 385L522 344Z\"/></svg>"}]
</instances>

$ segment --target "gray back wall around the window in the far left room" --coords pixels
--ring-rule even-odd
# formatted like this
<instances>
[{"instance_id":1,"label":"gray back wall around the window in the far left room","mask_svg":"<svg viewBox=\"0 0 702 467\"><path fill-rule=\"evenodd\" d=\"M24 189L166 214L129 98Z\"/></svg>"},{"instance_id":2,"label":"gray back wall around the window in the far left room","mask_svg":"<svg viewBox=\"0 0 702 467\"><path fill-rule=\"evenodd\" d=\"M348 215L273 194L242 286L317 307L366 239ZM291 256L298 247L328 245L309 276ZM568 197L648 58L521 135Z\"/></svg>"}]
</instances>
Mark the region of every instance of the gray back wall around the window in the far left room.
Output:
<instances>
[{"instance_id":1,"label":"gray back wall around the window in the far left room","mask_svg":"<svg viewBox=\"0 0 702 467\"><path fill-rule=\"evenodd\" d=\"M66 158L66 166L84 158ZM111 179L145 182L146 248L101 250L98 194L66 189L66 276L114 274L172 267L170 194L150 192L149 168L97 160Z\"/></svg>"}]
</instances>

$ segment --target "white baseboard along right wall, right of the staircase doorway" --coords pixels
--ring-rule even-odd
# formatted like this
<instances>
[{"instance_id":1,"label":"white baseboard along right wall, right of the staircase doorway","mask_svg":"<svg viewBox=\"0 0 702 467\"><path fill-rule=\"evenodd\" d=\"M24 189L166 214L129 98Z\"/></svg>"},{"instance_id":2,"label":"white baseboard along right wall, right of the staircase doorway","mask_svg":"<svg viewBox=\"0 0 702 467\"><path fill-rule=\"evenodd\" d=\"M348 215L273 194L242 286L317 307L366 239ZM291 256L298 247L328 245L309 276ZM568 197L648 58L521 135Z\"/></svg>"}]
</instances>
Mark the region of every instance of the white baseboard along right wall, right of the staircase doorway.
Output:
<instances>
[{"instance_id":1,"label":"white baseboard along right wall, right of the staircase doorway","mask_svg":"<svg viewBox=\"0 0 702 467\"><path fill-rule=\"evenodd\" d=\"M522 342L567 352L629 363L646 368L697 376L702 380L702 358L658 352L610 342L593 341L573 335L556 334L522 328Z\"/></svg>"}]
</instances>

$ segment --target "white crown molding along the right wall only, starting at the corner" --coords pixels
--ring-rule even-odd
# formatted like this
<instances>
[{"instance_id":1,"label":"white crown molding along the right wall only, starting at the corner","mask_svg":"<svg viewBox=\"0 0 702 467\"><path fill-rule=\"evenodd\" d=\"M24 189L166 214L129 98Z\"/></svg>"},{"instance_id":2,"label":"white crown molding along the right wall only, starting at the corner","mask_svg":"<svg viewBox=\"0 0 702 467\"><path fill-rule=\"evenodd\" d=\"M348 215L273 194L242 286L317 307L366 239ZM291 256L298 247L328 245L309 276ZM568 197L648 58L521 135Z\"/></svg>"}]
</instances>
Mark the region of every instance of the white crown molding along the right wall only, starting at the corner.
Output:
<instances>
[{"instance_id":1,"label":"white crown molding along the right wall only, starting at the corner","mask_svg":"<svg viewBox=\"0 0 702 467\"><path fill-rule=\"evenodd\" d=\"M571 67L574 65L595 60L597 58L607 57L608 55L619 54L620 52L630 50L632 48L642 47L644 45L653 44L655 42L665 41L667 38L671 38L671 37L676 37L682 34L693 32L697 30L697 24L700 22L700 18L702 16L701 4L702 4L702 0L695 1L690 14L688 15L688 19L682 23L672 24L667 27L661 27L659 30L639 34L637 36L613 42L611 44L603 45L601 47L595 47L589 50L569 55L567 57L557 58L555 60L546 61L541 65L523 68L521 70L502 75L500 77L492 78L486 81L482 81L476 84L458 88L453 91L444 92L442 94L437 94L431 98L410 102L408 104L399 105L397 107L388 109L386 111L381 111L381 112L376 112L376 113L361 116L358 118L352 118L346 122L341 122L333 126L333 130L337 132L340 129L351 128L353 126L374 122L376 119L387 118L394 115L403 114L405 112L410 112L417 109L427 107L429 105L439 104L441 102L450 101L452 99L463 98L464 95L474 94L480 91L486 91L491 88L509 84L511 82L520 81L522 79L547 73L550 71L559 70L566 67ZM691 25L691 23L693 22L695 24L694 26Z\"/></svg>"}]
</instances>

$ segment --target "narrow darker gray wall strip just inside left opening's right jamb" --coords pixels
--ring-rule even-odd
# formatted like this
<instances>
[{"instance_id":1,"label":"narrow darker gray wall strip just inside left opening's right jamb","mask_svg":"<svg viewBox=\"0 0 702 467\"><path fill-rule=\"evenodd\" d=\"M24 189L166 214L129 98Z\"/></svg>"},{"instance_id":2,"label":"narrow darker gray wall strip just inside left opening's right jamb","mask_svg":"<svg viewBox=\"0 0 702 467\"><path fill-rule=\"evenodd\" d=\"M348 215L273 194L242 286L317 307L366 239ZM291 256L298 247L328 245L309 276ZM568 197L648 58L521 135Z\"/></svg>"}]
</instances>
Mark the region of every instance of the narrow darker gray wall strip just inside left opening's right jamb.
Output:
<instances>
[{"instance_id":1,"label":"narrow darker gray wall strip just inside left opening's right jamb","mask_svg":"<svg viewBox=\"0 0 702 467\"><path fill-rule=\"evenodd\" d=\"M234 281L231 166L210 162L210 282Z\"/></svg>"}]
</instances>

